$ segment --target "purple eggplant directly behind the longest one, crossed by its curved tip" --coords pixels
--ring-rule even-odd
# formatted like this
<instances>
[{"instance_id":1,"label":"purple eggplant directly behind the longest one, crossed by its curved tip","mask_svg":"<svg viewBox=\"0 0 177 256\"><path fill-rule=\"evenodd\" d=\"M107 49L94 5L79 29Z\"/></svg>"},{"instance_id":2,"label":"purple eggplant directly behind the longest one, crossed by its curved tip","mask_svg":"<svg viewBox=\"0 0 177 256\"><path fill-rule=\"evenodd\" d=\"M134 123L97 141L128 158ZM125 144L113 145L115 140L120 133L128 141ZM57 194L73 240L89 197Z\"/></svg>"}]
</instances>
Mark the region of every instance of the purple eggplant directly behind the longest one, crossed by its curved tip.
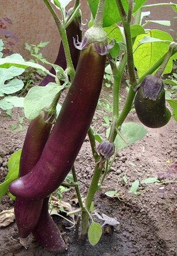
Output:
<instances>
[{"instance_id":1,"label":"purple eggplant directly behind the longest one, crossed by its curved tip","mask_svg":"<svg viewBox=\"0 0 177 256\"><path fill-rule=\"evenodd\" d=\"M44 113L41 112L30 122L21 152L19 177L23 177L32 170L39 160L49 137L52 124L45 122L43 118ZM16 197L14 205L15 221L21 238L26 238L36 226L42 202L42 199L29 201Z\"/></svg>"}]
</instances>

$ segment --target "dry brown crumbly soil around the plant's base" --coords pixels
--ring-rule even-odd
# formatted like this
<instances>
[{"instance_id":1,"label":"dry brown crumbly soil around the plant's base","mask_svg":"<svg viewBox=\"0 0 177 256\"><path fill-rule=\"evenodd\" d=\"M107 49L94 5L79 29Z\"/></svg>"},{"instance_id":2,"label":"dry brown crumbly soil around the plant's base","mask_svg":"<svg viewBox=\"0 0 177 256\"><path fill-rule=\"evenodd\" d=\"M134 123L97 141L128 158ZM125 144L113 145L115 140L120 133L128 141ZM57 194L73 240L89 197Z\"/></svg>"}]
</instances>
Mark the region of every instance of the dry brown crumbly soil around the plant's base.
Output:
<instances>
[{"instance_id":1,"label":"dry brown crumbly soil around the plant's base","mask_svg":"<svg viewBox=\"0 0 177 256\"><path fill-rule=\"evenodd\" d=\"M129 114L126 122L129 121L139 123L135 112ZM15 113L13 113L13 118L2 113L0 122L0 182L7 175L8 159L23 146L27 131L27 124L23 124L24 132L10 131L9 125L15 123L17 123ZM68 244L68 250L62 254L63 256L177 255L177 205L176 200L170 199L170 193L168 194L170 186L166 188L168 183L164 185L140 184L138 193L145 188L149 188L140 196L127 201L120 201L117 197L110 198L104 194L105 191L117 189L121 198L128 199L133 194L130 195L127 192L135 180L139 179L141 181L149 177L157 177L158 174L166 174L169 166L176 162L177 123L174 119L171 118L170 122L160 129L147 128L147 131L148 133L143 139L119 151L104 183L107 188L100 190L94 199L95 211L116 218L120 222L118 227L108 229L109 227L104 226L103 235L95 246L90 245L88 241L84 245L79 245L75 236L75 228L68 229L67 227L71 226L69 222L58 216L53 216L54 221L60 227L63 239ZM75 166L78 181L81 182L82 196L84 197L94 169L88 138L83 143ZM120 178L122 173L126 176L128 184L125 184L123 179ZM170 177L164 178L161 182L176 181L176 178L176 174L171 174ZM160 193L160 187L166 193ZM71 197L75 195L73 188L63 195L63 200L68 201L73 209L78 207L71 200ZM13 205L14 201L12 199L7 195L3 196L0 212L13 208ZM103 224L96 216L93 218L101 225ZM26 239L20 239L14 221L0 230L0 255L49 256L58 254L51 253L43 248L34 241L32 235Z\"/></svg>"}]
</instances>

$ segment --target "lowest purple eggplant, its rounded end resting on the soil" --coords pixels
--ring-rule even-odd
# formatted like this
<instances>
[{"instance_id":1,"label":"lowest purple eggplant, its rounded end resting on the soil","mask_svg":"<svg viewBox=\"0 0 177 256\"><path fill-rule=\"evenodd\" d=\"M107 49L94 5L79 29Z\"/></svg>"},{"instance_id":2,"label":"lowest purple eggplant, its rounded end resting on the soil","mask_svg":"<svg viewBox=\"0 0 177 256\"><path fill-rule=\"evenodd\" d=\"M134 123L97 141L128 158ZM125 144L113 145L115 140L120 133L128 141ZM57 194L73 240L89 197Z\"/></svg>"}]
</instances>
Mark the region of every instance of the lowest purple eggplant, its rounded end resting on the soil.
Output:
<instances>
[{"instance_id":1,"label":"lowest purple eggplant, its rounded end resting on the soil","mask_svg":"<svg viewBox=\"0 0 177 256\"><path fill-rule=\"evenodd\" d=\"M49 215L48 202L49 198L43 199L41 215L32 233L36 241L46 249L62 253L66 246L58 227Z\"/></svg>"}]
</instances>

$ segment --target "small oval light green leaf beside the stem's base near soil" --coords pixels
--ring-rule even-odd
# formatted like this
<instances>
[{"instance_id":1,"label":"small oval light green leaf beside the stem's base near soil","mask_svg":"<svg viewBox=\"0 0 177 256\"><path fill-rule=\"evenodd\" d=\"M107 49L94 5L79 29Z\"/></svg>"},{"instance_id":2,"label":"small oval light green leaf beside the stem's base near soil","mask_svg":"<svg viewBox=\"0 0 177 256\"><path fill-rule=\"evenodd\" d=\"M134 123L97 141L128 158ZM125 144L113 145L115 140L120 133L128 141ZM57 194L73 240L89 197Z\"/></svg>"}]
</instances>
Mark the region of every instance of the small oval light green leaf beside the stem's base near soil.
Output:
<instances>
[{"instance_id":1,"label":"small oval light green leaf beside the stem's base near soil","mask_svg":"<svg viewBox=\"0 0 177 256\"><path fill-rule=\"evenodd\" d=\"M89 242L91 245L96 245L102 235L102 229L99 223L93 221L88 232Z\"/></svg>"}]
</instances>

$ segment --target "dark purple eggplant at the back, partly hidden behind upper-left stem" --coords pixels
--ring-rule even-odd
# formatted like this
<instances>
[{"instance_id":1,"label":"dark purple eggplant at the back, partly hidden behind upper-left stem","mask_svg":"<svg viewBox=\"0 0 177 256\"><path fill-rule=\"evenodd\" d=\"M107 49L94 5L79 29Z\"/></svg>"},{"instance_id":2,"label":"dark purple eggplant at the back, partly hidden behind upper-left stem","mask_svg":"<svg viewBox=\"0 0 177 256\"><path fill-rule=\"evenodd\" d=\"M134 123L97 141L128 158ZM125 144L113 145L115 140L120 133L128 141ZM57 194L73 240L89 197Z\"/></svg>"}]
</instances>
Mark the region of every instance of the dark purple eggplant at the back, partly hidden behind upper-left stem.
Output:
<instances>
[{"instance_id":1,"label":"dark purple eggplant at the back, partly hidden behind upper-left stem","mask_svg":"<svg viewBox=\"0 0 177 256\"><path fill-rule=\"evenodd\" d=\"M77 19L73 19L72 23L66 29L68 43L69 43L69 47L70 47L71 58L72 58L73 66L74 66L75 70L77 67L78 60L79 60L80 51L75 48L75 46L73 44L73 37L77 38L77 36L78 36L79 40L82 39L82 31L80 30L79 26L80 26L79 21ZM54 64L60 66L61 68L63 68L63 70L65 70L67 68L67 62L65 60L64 48L63 48L62 42L60 44L58 56L57 56ZM50 70L50 72L54 75L56 74L54 68L52 68ZM46 86L46 84L48 84L49 82L55 82L55 78L50 75L47 75L45 77L45 79L43 79L41 81L39 86ZM62 83L62 81L61 81L61 83Z\"/></svg>"}]
</instances>

